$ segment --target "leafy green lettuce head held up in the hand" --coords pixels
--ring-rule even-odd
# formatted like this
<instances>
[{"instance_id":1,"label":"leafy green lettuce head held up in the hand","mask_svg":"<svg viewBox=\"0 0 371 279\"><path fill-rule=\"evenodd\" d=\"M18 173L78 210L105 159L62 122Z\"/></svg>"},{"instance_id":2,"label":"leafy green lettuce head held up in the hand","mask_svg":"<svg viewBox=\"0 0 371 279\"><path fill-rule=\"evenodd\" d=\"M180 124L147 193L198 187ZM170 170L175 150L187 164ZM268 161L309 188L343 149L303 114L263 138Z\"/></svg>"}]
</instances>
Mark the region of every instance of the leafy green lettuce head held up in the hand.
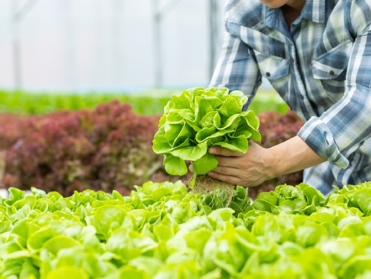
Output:
<instances>
[{"instance_id":1,"label":"leafy green lettuce head held up in the hand","mask_svg":"<svg viewBox=\"0 0 371 279\"><path fill-rule=\"evenodd\" d=\"M245 153L248 140L261 141L259 118L242 112L247 97L227 88L191 88L172 96L159 120L153 150L165 156L163 164L172 175L187 173L185 161L193 161L198 174L217 166L210 146Z\"/></svg>"}]
</instances>

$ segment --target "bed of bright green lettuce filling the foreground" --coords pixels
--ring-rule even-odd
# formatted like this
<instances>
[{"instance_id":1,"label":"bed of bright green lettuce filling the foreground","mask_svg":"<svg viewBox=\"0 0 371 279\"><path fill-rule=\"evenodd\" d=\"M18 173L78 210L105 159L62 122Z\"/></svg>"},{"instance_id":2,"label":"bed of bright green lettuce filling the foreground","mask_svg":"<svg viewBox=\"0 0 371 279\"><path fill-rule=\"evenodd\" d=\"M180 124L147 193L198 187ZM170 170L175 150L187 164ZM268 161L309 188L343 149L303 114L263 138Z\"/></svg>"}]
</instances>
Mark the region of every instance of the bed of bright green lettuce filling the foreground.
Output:
<instances>
[{"instance_id":1,"label":"bed of bright green lettuce filling the foreground","mask_svg":"<svg viewBox=\"0 0 371 279\"><path fill-rule=\"evenodd\" d=\"M130 196L16 188L0 201L0 278L371 278L371 182L325 198L281 185L229 208L176 183Z\"/></svg>"}]
</instances>

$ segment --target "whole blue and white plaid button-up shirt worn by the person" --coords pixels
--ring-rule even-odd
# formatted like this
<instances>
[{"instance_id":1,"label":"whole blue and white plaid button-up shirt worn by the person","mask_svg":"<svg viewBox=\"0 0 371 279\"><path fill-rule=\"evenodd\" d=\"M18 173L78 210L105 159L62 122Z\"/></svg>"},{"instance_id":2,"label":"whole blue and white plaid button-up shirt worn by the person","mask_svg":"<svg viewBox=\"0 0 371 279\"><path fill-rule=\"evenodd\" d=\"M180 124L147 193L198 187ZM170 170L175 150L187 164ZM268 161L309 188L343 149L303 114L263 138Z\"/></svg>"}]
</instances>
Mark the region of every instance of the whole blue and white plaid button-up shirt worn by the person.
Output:
<instances>
[{"instance_id":1,"label":"whole blue and white plaid button-up shirt worn by the person","mask_svg":"<svg viewBox=\"0 0 371 279\"><path fill-rule=\"evenodd\" d=\"M371 180L370 24L371 0L307 0L291 30L281 9L259 0L226 5L210 86L243 91L246 110L267 78L306 121L298 135L328 160L304 172L324 194Z\"/></svg>"}]
</instances>

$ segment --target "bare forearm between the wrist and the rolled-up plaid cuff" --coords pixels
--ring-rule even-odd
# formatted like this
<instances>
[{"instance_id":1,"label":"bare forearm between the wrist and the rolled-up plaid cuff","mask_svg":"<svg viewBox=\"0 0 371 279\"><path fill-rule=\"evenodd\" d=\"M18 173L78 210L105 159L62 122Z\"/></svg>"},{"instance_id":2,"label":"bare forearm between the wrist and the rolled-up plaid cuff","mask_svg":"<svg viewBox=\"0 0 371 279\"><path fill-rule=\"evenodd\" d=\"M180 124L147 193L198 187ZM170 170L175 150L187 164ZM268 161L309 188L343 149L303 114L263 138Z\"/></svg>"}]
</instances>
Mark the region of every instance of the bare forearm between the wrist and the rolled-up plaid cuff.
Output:
<instances>
[{"instance_id":1,"label":"bare forearm between the wrist and the rolled-up plaid cuff","mask_svg":"<svg viewBox=\"0 0 371 279\"><path fill-rule=\"evenodd\" d=\"M295 136L283 143L268 149L273 164L271 172L274 177L313 167L327 161L320 157L299 136Z\"/></svg>"}]
</instances>

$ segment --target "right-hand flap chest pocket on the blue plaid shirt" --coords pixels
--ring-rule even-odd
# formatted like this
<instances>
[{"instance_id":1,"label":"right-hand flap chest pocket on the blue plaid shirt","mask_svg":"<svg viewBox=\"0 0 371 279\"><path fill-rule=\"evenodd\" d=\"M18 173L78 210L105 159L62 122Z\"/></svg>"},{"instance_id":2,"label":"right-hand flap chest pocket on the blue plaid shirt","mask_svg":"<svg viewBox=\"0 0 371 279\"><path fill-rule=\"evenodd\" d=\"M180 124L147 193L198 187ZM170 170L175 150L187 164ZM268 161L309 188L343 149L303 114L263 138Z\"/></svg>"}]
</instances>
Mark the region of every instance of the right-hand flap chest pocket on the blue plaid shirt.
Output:
<instances>
[{"instance_id":1,"label":"right-hand flap chest pocket on the blue plaid shirt","mask_svg":"<svg viewBox=\"0 0 371 279\"><path fill-rule=\"evenodd\" d=\"M352 42L347 41L312 60L313 77L334 101L339 100L344 94L351 52Z\"/></svg>"}]
</instances>

